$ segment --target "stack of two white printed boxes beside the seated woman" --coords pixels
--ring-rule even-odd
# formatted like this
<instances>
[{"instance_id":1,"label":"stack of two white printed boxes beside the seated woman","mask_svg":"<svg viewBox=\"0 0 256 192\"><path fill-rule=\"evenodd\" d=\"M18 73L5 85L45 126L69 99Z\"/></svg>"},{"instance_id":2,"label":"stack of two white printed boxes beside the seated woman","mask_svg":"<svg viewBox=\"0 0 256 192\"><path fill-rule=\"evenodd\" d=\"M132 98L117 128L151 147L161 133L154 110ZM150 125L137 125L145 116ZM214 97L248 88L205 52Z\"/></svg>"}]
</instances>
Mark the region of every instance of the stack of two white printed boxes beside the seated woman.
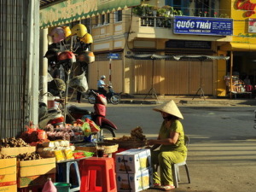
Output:
<instances>
[{"instance_id":1,"label":"stack of two white printed boxes beside the seated woman","mask_svg":"<svg viewBox=\"0 0 256 192\"><path fill-rule=\"evenodd\" d=\"M115 154L118 191L137 192L152 185L150 149L131 148Z\"/></svg>"}]
</instances>

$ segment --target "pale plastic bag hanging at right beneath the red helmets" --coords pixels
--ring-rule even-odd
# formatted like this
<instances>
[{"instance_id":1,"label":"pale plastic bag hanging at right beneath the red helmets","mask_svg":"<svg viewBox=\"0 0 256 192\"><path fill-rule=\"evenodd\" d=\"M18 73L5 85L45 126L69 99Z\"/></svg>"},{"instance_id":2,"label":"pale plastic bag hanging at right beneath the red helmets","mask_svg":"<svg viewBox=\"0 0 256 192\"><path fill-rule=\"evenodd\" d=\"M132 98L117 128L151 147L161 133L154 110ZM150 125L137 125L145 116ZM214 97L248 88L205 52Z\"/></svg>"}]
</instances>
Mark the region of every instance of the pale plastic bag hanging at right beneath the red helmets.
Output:
<instances>
[{"instance_id":1,"label":"pale plastic bag hanging at right beneath the red helmets","mask_svg":"<svg viewBox=\"0 0 256 192\"><path fill-rule=\"evenodd\" d=\"M74 77L69 81L69 86L79 92L86 92L88 90L88 83L85 77L85 73Z\"/></svg>"}]
</instances>

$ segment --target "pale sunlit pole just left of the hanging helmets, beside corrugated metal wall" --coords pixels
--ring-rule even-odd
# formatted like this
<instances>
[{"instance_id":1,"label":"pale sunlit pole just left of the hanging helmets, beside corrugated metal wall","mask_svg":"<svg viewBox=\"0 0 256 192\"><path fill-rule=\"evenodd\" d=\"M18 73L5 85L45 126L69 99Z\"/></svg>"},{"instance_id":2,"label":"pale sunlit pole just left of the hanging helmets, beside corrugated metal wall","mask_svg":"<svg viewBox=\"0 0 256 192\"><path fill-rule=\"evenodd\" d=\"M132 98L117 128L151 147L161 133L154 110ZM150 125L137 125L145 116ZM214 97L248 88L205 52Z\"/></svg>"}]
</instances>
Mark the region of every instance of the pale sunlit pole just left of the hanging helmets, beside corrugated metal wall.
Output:
<instances>
[{"instance_id":1,"label":"pale sunlit pole just left of the hanging helmets, beside corrugated metal wall","mask_svg":"<svg viewBox=\"0 0 256 192\"><path fill-rule=\"evenodd\" d=\"M48 90L48 60L44 58L46 51L48 50L47 40L48 29L40 30L40 54L39 54L39 67L40 67L40 97L39 101L47 104L47 95L44 94Z\"/></svg>"}]
</instances>

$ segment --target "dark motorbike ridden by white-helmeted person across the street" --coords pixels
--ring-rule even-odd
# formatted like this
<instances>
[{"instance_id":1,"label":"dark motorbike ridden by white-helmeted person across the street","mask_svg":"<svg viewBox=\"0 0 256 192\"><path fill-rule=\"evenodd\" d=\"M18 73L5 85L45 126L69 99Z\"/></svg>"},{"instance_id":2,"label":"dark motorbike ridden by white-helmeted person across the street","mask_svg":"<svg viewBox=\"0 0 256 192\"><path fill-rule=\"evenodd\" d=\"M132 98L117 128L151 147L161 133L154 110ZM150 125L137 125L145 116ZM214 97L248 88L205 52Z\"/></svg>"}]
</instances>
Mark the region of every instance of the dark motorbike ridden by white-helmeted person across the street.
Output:
<instances>
[{"instance_id":1,"label":"dark motorbike ridden by white-helmeted person across the street","mask_svg":"<svg viewBox=\"0 0 256 192\"><path fill-rule=\"evenodd\" d=\"M99 90L93 90L90 89L88 90L88 102L90 102L90 104L94 104L96 102L96 96L94 94L94 92L100 93ZM113 91L113 87L111 85L108 86L108 93L107 93L107 101L111 102L113 105L117 105L120 102L120 94L121 93L115 93Z\"/></svg>"}]
</instances>

